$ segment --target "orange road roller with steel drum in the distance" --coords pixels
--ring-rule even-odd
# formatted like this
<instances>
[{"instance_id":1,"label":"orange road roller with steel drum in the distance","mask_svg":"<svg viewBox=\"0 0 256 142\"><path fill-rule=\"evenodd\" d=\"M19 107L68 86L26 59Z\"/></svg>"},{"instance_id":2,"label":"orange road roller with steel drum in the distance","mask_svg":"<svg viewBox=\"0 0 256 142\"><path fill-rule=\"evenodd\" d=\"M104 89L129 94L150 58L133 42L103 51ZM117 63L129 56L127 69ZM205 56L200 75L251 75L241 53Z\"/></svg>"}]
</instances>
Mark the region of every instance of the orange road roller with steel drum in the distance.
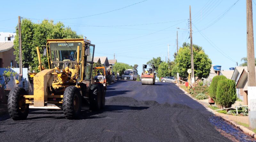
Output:
<instances>
[{"instance_id":1,"label":"orange road roller with steel drum in the distance","mask_svg":"<svg viewBox=\"0 0 256 142\"><path fill-rule=\"evenodd\" d=\"M142 65L142 74L141 74L141 83L142 85L154 85L156 79L154 64L143 64Z\"/></svg>"}]
</instances>

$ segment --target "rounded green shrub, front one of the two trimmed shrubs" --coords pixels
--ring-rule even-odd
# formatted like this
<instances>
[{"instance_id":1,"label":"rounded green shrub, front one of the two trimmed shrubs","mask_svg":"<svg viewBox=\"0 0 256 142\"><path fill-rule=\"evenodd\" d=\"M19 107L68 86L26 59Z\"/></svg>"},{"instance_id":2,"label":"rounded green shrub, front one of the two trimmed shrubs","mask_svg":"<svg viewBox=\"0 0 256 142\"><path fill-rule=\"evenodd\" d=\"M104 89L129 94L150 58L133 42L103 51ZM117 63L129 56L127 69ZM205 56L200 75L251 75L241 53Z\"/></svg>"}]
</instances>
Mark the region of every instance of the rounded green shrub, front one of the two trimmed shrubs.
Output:
<instances>
[{"instance_id":1,"label":"rounded green shrub, front one of the two trimmed shrubs","mask_svg":"<svg viewBox=\"0 0 256 142\"><path fill-rule=\"evenodd\" d=\"M236 82L231 79L220 80L216 93L216 103L222 107L230 108L237 99Z\"/></svg>"}]
</instances>

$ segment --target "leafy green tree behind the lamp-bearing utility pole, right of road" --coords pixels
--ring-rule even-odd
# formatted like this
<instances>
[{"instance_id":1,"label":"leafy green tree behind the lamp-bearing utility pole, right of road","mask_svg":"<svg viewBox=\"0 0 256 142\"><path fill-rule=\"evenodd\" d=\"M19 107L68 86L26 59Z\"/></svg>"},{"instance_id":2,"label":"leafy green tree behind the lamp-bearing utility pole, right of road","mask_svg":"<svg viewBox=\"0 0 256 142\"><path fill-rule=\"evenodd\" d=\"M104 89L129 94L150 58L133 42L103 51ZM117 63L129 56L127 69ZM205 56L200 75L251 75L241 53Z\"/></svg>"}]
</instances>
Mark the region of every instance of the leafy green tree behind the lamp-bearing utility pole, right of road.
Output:
<instances>
[{"instance_id":1,"label":"leafy green tree behind the lamp-bearing utility pole, right of road","mask_svg":"<svg viewBox=\"0 0 256 142\"><path fill-rule=\"evenodd\" d=\"M188 69L191 69L191 57L190 57L190 47L186 45L179 49L179 54L176 56L174 60L174 70L172 71L172 75L176 76L177 72L181 78L188 77ZM197 49L193 47L193 55L194 55L194 71L195 77L198 78L207 78L210 74L210 69L212 66L212 61L209 59L209 56L204 53L204 50L201 49L198 45L196 46Z\"/></svg>"}]
</instances>

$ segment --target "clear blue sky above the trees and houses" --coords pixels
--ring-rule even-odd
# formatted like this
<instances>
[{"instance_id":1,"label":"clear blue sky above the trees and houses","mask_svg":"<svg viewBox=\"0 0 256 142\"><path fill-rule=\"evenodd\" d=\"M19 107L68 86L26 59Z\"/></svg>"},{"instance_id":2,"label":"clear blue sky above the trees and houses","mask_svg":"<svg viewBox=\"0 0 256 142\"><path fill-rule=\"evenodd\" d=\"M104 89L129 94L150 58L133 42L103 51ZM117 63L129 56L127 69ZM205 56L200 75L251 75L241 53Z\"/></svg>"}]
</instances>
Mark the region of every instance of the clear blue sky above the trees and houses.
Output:
<instances>
[{"instance_id":1,"label":"clear blue sky above the trees and houses","mask_svg":"<svg viewBox=\"0 0 256 142\"><path fill-rule=\"evenodd\" d=\"M35 23L42 19L61 21L96 45L95 56L114 59L115 53L117 62L138 64L141 73L142 64L153 57L160 56L165 61L168 44L172 45L170 60L173 60L177 30L179 47L183 42L190 43L189 32L176 27L189 29L191 5L193 44L202 46L212 64L221 65L222 70L235 67L236 62L242 64L241 58L246 57L244 0L142 1L2 1L0 32L14 32L18 16ZM254 12L256 4L252 3L252 7ZM254 19L255 16L253 13Z\"/></svg>"}]
</instances>

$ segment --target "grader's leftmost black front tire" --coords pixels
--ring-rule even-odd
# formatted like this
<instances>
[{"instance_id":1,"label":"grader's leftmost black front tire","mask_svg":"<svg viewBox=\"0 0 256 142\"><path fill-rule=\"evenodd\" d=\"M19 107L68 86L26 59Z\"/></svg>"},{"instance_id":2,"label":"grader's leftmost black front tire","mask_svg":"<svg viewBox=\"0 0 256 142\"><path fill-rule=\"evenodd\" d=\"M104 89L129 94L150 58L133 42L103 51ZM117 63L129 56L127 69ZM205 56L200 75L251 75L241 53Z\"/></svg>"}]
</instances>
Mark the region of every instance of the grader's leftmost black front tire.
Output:
<instances>
[{"instance_id":1,"label":"grader's leftmost black front tire","mask_svg":"<svg viewBox=\"0 0 256 142\"><path fill-rule=\"evenodd\" d=\"M7 107L13 120L24 120L28 116L29 105L23 95L26 90L21 87L15 87L9 93Z\"/></svg>"}]
</instances>

